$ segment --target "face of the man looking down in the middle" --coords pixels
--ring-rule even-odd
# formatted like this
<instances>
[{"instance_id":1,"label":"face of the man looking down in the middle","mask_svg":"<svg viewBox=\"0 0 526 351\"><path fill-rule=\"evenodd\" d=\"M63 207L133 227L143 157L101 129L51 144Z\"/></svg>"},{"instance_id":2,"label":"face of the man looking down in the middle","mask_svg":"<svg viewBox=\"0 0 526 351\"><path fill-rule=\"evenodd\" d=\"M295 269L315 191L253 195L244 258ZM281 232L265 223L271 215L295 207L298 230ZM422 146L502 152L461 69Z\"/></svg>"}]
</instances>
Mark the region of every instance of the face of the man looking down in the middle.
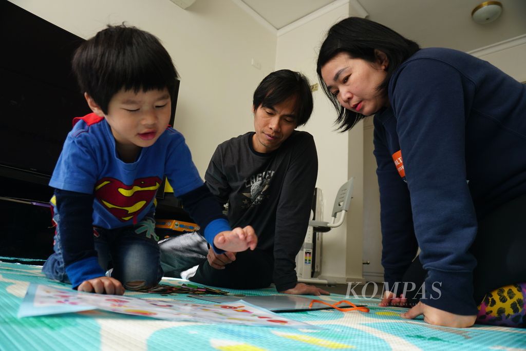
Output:
<instances>
[{"instance_id":1,"label":"face of the man looking down in the middle","mask_svg":"<svg viewBox=\"0 0 526 351\"><path fill-rule=\"evenodd\" d=\"M262 153L277 150L297 127L296 97L272 107L252 107L254 129L252 136L254 150Z\"/></svg>"}]
</instances>

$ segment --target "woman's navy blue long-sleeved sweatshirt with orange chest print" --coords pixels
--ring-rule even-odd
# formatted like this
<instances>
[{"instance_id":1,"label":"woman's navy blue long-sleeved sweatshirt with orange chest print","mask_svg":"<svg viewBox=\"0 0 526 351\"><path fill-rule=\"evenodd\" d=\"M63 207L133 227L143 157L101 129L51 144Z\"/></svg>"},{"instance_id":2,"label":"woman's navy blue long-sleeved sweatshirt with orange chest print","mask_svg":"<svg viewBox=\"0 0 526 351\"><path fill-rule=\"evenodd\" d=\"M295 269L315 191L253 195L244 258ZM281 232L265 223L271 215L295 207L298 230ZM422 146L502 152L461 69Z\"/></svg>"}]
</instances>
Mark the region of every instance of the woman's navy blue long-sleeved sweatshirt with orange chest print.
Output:
<instances>
[{"instance_id":1,"label":"woman's navy blue long-sleeved sweatshirt with orange chest print","mask_svg":"<svg viewBox=\"0 0 526 351\"><path fill-rule=\"evenodd\" d=\"M389 100L374 121L386 282L401 281L420 246L422 302L474 315L478 219L526 193L526 87L478 58L429 48L395 71Z\"/></svg>"}]
</instances>

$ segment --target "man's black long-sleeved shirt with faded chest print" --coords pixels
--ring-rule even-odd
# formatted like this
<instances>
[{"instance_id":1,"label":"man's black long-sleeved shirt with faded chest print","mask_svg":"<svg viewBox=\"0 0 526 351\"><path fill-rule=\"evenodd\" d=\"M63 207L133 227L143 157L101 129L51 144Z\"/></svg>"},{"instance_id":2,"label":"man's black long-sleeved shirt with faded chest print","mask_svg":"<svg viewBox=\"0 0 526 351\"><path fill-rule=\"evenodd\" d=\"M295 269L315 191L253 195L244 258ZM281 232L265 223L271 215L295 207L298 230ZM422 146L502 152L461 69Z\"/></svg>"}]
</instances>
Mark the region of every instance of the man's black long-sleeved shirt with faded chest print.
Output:
<instances>
[{"instance_id":1,"label":"man's black long-sleeved shirt with faded chest print","mask_svg":"<svg viewBox=\"0 0 526 351\"><path fill-rule=\"evenodd\" d=\"M218 200L228 202L231 226L251 225L258 249L274 254L277 291L297 284L295 258L305 240L318 157L312 136L294 131L270 153L252 147L254 132L217 147L205 180Z\"/></svg>"}]
</instances>

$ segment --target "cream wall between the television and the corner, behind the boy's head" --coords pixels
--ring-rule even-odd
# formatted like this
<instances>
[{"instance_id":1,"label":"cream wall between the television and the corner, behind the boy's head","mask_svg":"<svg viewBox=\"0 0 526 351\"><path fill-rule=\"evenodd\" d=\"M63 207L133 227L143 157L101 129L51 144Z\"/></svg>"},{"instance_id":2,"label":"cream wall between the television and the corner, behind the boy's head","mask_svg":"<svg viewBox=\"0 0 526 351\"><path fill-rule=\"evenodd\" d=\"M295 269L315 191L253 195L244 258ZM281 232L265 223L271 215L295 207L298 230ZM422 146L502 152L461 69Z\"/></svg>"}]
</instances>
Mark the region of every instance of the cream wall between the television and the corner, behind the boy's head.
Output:
<instances>
[{"instance_id":1,"label":"cream wall between the television and the corner, behind the boy's head","mask_svg":"<svg viewBox=\"0 0 526 351\"><path fill-rule=\"evenodd\" d=\"M159 37L181 77L175 128L201 176L218 143L254 128L252 94L274 70L277 38L231 1L186 10L170 0L10 1L83 38L124 21Z\"/></svg>"}]
</instances>

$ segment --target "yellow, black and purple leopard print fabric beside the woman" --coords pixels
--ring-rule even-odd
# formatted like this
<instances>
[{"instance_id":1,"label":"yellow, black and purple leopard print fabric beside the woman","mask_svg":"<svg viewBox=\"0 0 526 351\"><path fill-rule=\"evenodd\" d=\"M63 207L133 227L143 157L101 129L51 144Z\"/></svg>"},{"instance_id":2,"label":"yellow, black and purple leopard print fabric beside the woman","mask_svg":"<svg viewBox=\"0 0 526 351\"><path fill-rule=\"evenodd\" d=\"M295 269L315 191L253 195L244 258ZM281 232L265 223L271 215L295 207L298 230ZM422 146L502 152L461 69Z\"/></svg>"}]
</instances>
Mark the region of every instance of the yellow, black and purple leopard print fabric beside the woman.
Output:
<instances>
[{"instance_id":1,"label":"yellow, black and purple leopard print fabric beside the woman","mask_svg":"<svg viewBox=\"0 0 526 351\"><path fill-rule=\"evenodd\" d=\"M493 290L479 305L478 324L526 328L526 283Z\"/></svg>"}]
</instances>

